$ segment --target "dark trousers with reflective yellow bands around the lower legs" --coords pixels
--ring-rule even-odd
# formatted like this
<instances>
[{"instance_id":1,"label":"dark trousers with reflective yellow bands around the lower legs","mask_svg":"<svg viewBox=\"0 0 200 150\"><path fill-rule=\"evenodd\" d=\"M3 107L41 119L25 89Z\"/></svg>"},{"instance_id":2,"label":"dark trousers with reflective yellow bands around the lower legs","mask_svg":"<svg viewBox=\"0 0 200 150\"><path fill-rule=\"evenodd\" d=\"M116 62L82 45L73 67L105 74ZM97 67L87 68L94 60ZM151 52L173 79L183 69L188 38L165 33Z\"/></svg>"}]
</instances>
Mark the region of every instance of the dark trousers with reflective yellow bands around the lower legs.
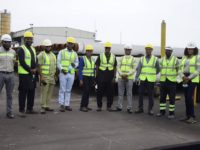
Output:
<instances>
[{"instance_id":1,"label":"dark trousers with reflective yellow bands around the lower legs","mask_svg":"<svg viewBox=\"0 0 200 150\"><path fill-rule=\"evenodd\" d=\"M160 82L160 103L161 104L166 104L167 95L169 96L169 105L175 105L176 82L171 82L166 79L165 82ZM175 109L175 106L172 106L172 107ZM160 109L160 112L165 113L165 110ZM169 111L169 113L174 114L174 111Z\"/></svg>"}]
</instances>

